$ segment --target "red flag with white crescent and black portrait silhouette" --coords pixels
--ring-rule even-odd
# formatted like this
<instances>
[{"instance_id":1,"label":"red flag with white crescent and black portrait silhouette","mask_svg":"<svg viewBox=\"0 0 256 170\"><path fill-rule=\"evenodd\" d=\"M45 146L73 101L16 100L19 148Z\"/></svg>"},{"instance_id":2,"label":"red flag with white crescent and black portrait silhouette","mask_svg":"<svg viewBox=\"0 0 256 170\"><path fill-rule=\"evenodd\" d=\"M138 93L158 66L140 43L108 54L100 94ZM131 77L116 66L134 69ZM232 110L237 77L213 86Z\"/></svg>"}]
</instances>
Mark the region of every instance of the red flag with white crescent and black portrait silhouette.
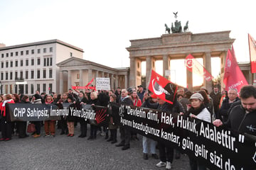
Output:
<instances>
[{"instance_id":1,"label":"red flag with white crescent and black portrait silhouette","mask_svg":"<svg viewBox=\"0 0 256 170\"><path fill-rule=\"evenodd\" d=\"M154 96L157 96L162 100L173 104L177 89L178 87L176 84L173 84L171 81L152 70L149 82L149 90L154 93Z\"/></svg>"}]
</instances>

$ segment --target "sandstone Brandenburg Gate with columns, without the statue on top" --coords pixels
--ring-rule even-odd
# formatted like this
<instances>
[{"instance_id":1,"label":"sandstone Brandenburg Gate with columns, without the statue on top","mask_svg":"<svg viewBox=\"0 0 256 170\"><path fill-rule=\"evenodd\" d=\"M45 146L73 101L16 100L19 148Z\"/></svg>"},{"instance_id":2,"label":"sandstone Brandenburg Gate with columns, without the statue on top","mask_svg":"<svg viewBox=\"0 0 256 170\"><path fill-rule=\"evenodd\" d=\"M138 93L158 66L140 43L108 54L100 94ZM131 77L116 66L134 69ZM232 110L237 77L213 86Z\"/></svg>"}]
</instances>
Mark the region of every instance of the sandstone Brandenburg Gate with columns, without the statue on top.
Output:
<instances>
[{"instance_id":1,"label":"sandstone Brandenburg Gate with columns, without the statue on top","mask_svg":"<svg viewBox=\"0 0 256 170\"><path fill-rule=\"evenodd\" d=\"M203 67L211 74L210 57L220 57L220 74L223 77L225 58L228 49L235 39L230 38L230 30L213 33L172 33L163 34L159 38L130 40L127 47L130 58L129 86L142 84L142 62L146 61L146 84L149 82L151 69L155 70L156 60L163 61L163 76L170 79L165 71L170 70L170 61L185 59L191 54L195 58L203 58ZM184 65L181 65L184 67ZM192 73L187 70L188 89L193 89ZM223 81L223 80L222 80ZM208 91L212 90L211 81L203 81Z\"/></svg>"}]
</instances>

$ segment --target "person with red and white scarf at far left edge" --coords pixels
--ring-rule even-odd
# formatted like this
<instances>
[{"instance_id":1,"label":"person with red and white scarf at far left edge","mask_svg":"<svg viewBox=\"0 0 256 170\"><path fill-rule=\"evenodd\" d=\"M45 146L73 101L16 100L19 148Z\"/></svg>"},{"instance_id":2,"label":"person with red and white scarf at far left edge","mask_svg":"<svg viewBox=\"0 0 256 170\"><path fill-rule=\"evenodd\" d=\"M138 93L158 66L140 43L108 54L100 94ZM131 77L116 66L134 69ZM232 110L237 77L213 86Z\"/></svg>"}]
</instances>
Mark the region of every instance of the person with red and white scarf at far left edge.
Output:
<instances>
[{"instance_id":1,"label":"person with red and white scarf at far left edge","mask_svg":"<svg viewBox=\"0 0 256 170\"><path fill-rule=\"evenodd\" d=\"M14 103L14 100L11 99L11 94L4 95L4 101L0 106L1 110L1 139L0 141L9 141L11 140L11 118L9 110L6 109L7 103Z\"/></svg>"}]
</instances>

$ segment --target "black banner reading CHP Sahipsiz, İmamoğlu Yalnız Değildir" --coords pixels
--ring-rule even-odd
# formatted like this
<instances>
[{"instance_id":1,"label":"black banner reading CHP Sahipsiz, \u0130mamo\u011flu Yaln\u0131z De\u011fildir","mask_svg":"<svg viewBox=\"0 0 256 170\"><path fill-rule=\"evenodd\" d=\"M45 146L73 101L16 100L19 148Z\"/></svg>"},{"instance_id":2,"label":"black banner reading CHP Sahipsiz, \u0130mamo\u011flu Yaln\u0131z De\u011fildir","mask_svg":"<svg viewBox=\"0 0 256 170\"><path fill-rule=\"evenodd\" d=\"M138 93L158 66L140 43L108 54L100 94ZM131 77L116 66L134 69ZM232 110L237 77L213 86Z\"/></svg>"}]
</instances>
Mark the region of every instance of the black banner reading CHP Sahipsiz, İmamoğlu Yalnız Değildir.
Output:
<instances>
[{"instance_id":1,"label":"black banner reading CHP Sahipsiz, \u0130mamo\u011flu Yaln\u0131z De\u011fildir","mask_svg":"<svg viewBox=\"0 0 256 170\"><path fill-rule=\"evenodd\" d=\"M42 121L60 120L68 115L89 120L93 125L108 125L109 115L107 108L102 106L82 105L81 109L70 106L71 103L63 103L63 108L53 104L11 103L8 104L8 115L11 121Z\"/></svg>"}]
</instances>

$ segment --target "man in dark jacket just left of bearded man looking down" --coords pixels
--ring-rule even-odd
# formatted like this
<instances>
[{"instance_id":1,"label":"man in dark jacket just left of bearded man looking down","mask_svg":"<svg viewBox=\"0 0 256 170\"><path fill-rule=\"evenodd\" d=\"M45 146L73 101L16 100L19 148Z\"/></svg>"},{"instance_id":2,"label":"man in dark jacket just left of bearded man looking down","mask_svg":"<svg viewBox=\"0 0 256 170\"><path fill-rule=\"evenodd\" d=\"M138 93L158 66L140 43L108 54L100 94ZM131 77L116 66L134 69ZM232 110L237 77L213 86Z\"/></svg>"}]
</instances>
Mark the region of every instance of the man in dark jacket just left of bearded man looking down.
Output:
<instances>
[{"instance_id":1,"label":"man in dark jacket just left of bearded man looking down","mask_svg":"<svg viewBox=\"0 0 256 170\"><path fill-rule=\"evenodd\" d=\"M226 97L223 100L223 103L221 104L219 114L220 115L220 120L223 120L223 122L226 122L228 120L228 109L231 107L231 105L235 101L239 101L240 99L238 98L238 91L237 89L230 89L228 91L228 97Z\"/></svg>"}]
</instances>

